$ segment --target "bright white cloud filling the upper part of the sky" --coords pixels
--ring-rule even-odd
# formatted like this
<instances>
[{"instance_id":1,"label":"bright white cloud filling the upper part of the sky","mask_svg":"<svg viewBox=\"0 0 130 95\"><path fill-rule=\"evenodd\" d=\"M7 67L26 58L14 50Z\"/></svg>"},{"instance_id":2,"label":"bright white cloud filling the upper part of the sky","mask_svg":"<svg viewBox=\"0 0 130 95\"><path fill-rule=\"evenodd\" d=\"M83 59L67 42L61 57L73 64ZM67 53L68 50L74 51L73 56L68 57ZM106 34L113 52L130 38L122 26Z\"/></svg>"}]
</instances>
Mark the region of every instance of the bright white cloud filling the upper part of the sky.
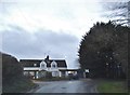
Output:
<instances>
[{"instance_id":1,"label":"bright white cloud filling the upper part of the sky","mask_svg":"<svg viewBox=\"0 0 130 95\"><path fill-rule=\"evenodd\" d=\"M6 24L23 27L29 32L48 29L81 38L100 19L101 6L95 0L4 0L2 28ZM5 13L6 12L6 13Z\"/></svg>"}]
</instances>

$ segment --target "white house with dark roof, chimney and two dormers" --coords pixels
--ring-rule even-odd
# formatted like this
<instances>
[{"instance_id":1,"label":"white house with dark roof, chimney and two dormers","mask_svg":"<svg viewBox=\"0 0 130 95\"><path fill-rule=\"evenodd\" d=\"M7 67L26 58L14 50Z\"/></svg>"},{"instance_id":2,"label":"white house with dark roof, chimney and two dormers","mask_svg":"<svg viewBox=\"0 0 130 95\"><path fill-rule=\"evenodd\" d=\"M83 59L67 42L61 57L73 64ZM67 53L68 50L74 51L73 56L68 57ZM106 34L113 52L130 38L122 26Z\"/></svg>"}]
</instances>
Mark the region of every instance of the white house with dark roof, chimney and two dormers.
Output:
<instances>
[{"instance_id":1,"label":"white house with dark roof, chimney and two dormers","mask_svg":"<svg viewBox=\"0 0 130 95\"><path fill-rule=\"evenodd\" d=\"M24 67L24 74L39 79L47 77L48 72L52 77L67 77L67 65L65 59L50 59L47 56L46 59L20 59L20 63Z\"/></svg>"}]
</instances>

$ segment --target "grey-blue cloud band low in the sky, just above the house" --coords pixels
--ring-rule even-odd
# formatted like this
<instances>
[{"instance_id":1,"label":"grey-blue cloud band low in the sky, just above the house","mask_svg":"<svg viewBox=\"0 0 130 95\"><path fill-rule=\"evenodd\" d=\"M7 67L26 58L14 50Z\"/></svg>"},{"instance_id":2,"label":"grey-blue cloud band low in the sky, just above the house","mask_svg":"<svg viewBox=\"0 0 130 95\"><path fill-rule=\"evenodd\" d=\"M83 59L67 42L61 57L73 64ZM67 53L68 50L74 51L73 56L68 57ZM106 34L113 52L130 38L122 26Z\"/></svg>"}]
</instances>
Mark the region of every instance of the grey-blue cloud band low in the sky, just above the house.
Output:
<instances>
[{"instance_id":1,"label":"grey-blue cloud band low in the sky, just above the house","mask_svg":"<svg viewBox=\"0 0 130 95\"><path fill-rule=\"evenodd\" d=\"M79 39L65 32L40 29L35 33L27 32L17 26L10 26L2 33L2 51L17 58L66 58L69 68L75 67Z\"/></svg>"}]
</instances>

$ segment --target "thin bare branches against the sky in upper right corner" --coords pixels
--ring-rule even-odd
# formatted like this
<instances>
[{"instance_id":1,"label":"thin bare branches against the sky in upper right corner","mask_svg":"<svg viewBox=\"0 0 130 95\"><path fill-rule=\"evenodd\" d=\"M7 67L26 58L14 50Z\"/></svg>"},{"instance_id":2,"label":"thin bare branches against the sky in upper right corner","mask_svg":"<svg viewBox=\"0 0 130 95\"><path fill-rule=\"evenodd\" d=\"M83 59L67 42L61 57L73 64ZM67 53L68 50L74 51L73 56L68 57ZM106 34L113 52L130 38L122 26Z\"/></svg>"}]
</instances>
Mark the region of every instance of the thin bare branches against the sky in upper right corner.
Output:
<instances>
[{"instance_id":1,"label":"thin bare branches against the sky in upper right corner","mask_svg":"<svg viewBox=\"0 0 130 95\"><path fill-rule=\"evenodd\" d=\"M110 17L113 22L130 26L130 1L117 1L117 2L106 2L103 4L107 17Z\"/></svg>"}]
</instances>

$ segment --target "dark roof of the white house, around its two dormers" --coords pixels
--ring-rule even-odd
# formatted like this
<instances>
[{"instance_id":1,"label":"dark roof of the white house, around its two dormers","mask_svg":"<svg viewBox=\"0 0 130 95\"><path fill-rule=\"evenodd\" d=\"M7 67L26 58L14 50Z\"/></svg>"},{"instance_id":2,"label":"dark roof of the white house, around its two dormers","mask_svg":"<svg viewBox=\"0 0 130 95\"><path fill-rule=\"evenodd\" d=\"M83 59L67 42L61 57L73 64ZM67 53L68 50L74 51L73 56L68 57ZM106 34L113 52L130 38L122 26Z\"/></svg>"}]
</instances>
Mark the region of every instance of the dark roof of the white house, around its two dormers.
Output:
<instances>
[{"instance_id":1,"label":"dark roof of the white house, around its two dormers","mask_svg":"<svg viewBox=\"0 0 130 95\"><path fill-rule=\"evenodd\" d=\"M40 67L40 63L44 59L21 59L20 63L23 67ZM52 62L57 63L57 67L67 67L65 59L49 59L47 67L51 67ZM36 66L34 66L36 64Z\"/></svg>"}]
</instances>

